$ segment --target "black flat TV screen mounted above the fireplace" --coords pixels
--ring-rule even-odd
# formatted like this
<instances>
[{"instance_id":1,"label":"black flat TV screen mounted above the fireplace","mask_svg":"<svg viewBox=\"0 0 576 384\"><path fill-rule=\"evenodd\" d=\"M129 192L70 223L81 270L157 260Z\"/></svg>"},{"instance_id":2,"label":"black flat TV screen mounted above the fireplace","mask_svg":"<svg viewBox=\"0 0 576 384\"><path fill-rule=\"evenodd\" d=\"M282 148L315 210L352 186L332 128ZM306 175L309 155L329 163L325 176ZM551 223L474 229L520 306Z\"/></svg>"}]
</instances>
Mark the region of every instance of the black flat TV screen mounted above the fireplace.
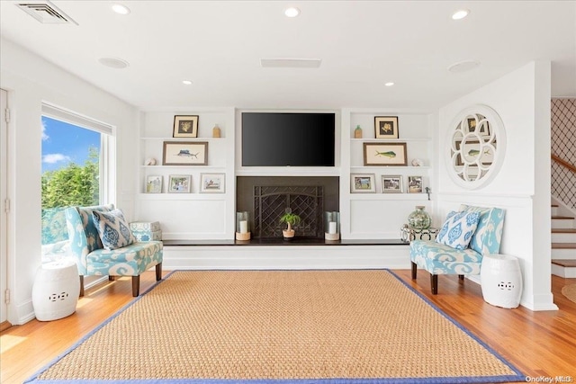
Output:
<instances>
[{"instance_id":1,"label":"black flat TV screen mounted above the fireplace","mask_svg":"<svg viewBox=\"0 0 576 384\"><path fill-rule=\"evenodd\" d=\"M334 113L242 113L243 166L334 166Z\"/></svg>"}]
</instances>

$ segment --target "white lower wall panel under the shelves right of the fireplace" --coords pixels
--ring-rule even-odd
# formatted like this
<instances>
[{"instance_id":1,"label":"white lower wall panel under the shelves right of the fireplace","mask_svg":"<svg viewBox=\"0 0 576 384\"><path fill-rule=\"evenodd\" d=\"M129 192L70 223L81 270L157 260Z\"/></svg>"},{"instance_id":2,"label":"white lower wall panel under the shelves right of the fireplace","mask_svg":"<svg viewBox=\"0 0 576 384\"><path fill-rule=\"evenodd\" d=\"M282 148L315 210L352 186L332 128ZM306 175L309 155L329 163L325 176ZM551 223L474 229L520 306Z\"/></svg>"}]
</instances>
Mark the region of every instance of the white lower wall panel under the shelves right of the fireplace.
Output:
<instances>
[{"instance_id":1,"label":"white lower wall panel under the shelves right of the fireplace","mask_svg":"<svg viewBox=\"0 0 576 384\"><path fill-rule=\"evenodd\" d=\"M350 201L351 238L400 238L400 229L416 205L424 205L429 213L430 201Z\"/></svg>"}]
</instances>

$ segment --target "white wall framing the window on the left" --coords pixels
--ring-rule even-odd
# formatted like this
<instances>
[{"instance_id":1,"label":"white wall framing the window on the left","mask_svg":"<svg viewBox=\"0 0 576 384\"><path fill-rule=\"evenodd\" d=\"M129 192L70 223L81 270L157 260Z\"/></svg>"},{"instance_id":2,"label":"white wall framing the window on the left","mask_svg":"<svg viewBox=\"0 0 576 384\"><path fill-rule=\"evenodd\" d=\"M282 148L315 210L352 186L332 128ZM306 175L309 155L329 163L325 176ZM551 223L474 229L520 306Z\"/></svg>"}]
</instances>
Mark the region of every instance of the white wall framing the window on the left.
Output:
<instances>
[{"instance_id":1,"label":"white wall framing the window on the left","mask_svg":"<svg viewBox=\"0 0 576 384\"><path fill-rule=\"evenodd\" d=\"M8 321L33 317L31 288L40 265L41 103L49 102L116 127L116 201L130 218L138 159L138 112L8 40L0 40L0 86L9 91ZM103 70L113 70L103 68ZM4 271L3 271L4 272Z\"/></svg>"}]
</instances>

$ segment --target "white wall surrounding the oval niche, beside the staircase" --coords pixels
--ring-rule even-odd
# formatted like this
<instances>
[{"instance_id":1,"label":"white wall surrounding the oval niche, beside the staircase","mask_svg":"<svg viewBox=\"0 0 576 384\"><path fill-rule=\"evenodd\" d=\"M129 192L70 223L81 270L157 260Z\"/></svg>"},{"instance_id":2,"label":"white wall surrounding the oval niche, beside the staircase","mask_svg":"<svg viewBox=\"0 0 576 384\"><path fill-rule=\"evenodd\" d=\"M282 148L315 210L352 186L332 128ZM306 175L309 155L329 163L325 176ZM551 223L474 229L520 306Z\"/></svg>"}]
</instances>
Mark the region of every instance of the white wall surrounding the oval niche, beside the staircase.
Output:
<instances>
[{"instance_id":1,"label":"white wall surrounding the oval niche, beside the staircase","mask_svg":"<svg viewBox=\"0 0 576 384\"><path fill-rule=\"evenodd\" d=\"M460 203L505 209L500 253L519 258L525 286L521 304L534 310L557 309L550 263L550 74L550 62L529 63L446 105L438 116L436 214L445 217ZM443 151L455 116L474 104L500 114L508 145L499 174L468 191L452 181Z\"/></svg>"}]
</instances>

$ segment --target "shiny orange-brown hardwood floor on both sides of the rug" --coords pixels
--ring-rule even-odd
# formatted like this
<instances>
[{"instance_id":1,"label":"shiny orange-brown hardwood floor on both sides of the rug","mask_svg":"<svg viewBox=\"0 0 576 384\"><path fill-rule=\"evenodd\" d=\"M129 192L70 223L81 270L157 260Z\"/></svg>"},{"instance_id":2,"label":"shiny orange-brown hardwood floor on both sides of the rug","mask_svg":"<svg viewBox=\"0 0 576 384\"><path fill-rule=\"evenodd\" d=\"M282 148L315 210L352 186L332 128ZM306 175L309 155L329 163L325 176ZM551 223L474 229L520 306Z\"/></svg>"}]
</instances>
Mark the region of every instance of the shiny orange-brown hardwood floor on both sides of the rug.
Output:
<instances>
[{"instance_id":1,"label":"shiny orange-brown hardwood floor on both sides of the rug","mask_svg":"<svg viewBox=\"0 0 576 384\"><path fill-rule=\"evenodd\" d=\"M394 272L528 376L550 377L551 382L570 376L572 381L564 382L576 381L576 303L561 293L565 284L576 279L553 276L554 302L560 310L532 312L493 307L482 299L478 284L463 283L457 276L439 276L439 293L433 296L427 272L419 271L417 281L411 281L410 270ZM140 291L154 282L154 272L144 273ZM0 333L2 383L22 383L131 299L130 278L109 281L86 290L69 317L32 320Z\"/></svg>"}]
</instances>

